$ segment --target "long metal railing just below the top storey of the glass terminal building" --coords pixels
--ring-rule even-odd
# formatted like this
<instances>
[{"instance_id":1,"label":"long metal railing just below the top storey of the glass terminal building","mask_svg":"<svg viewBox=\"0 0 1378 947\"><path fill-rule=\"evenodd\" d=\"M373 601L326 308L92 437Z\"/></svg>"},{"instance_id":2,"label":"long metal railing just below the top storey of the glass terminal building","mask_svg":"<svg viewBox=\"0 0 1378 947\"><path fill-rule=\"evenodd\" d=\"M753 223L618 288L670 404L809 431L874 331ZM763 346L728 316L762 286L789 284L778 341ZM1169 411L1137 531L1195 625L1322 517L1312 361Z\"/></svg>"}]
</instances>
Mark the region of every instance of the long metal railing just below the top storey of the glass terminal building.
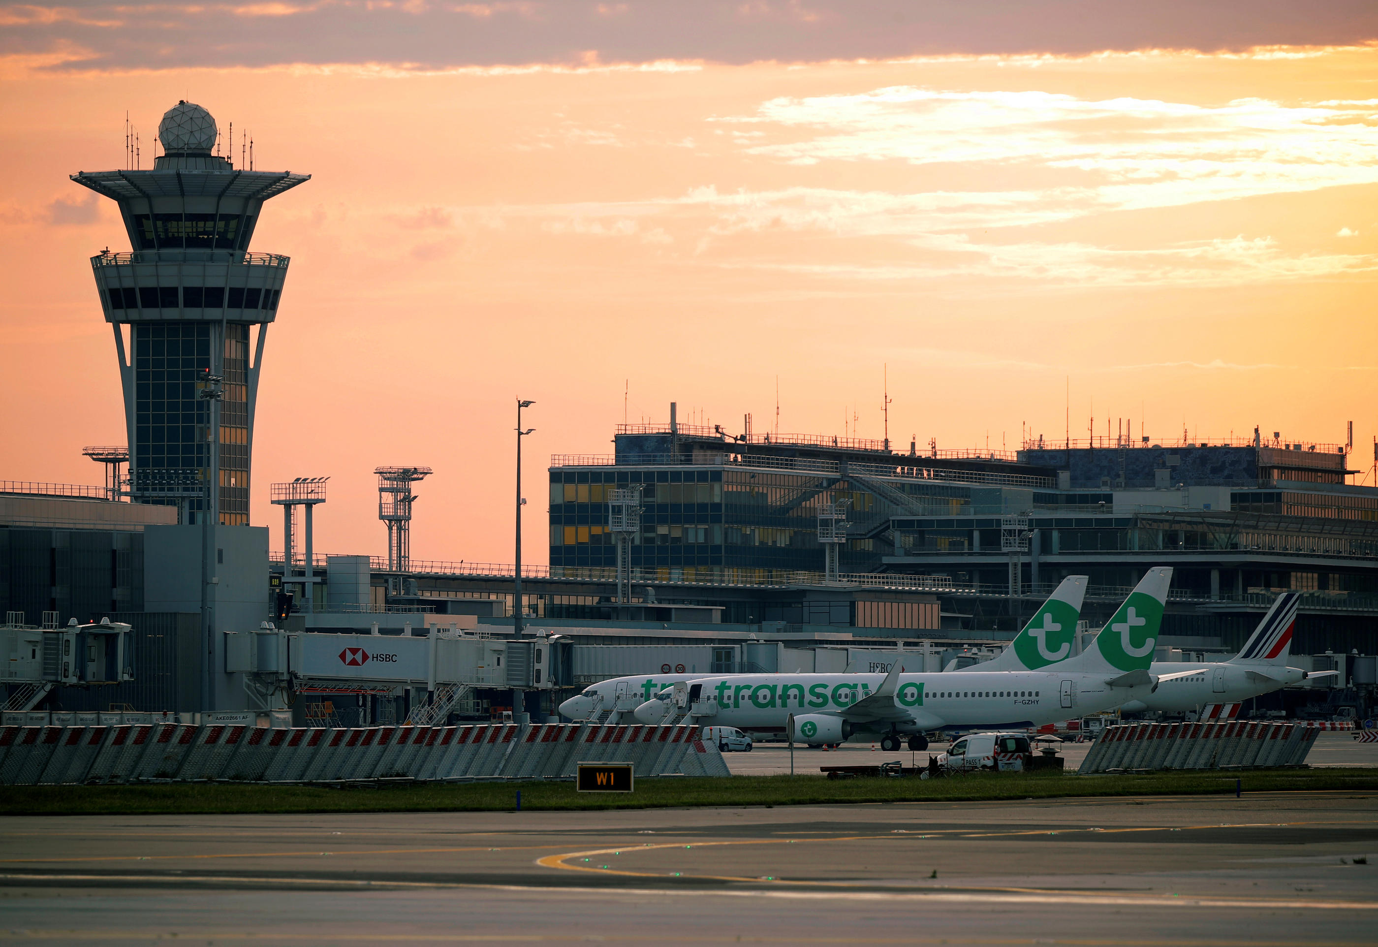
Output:
<instances>
[{"instance_id":1,"label":"long metal railing just below the top storey of the glass terminal building","mask_svg":"<svg viewBox=\"0 0 1378 947\"><path fill-rule=\"evenodd\" d=\"M983 458L984 459L984 458ZM943 467L925 467L925 458L915 458L907 454L894 455L894 465L889 463L847 463L847 473L861 477L890 477L897 480L944 481L955 484L995 484L1000 487L1028 487L1032 489L1054 489L1056 481L1051 477L1032 477L1028 474L1005 474L985 470L947 470ZM553 454L550 469L557 467L610 467L610 466L683 466L683 467L744 467L757 470L785 470L790 473L814 474L820 477L842 476L843 465L836 460L823 460L814 458L769 458L761 455L733 455L733 454Z\"/></svg>"}]
</instances>

